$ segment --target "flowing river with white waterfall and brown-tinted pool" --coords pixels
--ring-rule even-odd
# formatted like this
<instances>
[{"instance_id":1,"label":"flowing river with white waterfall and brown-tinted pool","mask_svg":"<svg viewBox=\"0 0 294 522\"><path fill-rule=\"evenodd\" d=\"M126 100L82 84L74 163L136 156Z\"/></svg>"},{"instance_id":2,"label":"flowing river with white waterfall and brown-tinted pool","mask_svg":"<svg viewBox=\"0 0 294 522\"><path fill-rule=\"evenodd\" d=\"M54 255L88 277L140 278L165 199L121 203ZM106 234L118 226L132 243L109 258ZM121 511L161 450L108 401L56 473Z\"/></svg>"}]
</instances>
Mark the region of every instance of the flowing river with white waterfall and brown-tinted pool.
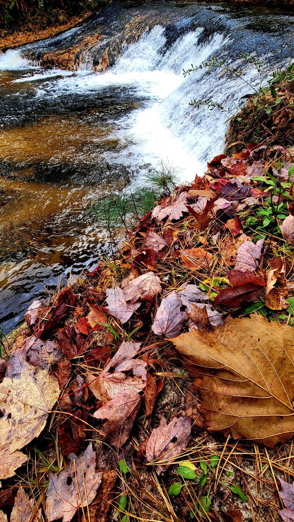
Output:
<instances>
[{"instance_id":1,"label":"flowing river with white waterfall and brown-tinted pool","mask_svg":"<svg viewBox=\"0 0 294 522\"><path fill-rule=\"evenodd\" d=\"M253 92L211 57L255 53L266 82L294 61L291 11L251 4L113 2L65 33L0 54L0 324L109 253L92 212L103 192L144 185L159 161L182 181L224 148L228 114ZM242 62L243 64L243 62ZM245 80L258 85L249 62ZM104 72L103 72L104 70ZM242 102L241 102L242 103Z\"/></svg>"}]
</instances>

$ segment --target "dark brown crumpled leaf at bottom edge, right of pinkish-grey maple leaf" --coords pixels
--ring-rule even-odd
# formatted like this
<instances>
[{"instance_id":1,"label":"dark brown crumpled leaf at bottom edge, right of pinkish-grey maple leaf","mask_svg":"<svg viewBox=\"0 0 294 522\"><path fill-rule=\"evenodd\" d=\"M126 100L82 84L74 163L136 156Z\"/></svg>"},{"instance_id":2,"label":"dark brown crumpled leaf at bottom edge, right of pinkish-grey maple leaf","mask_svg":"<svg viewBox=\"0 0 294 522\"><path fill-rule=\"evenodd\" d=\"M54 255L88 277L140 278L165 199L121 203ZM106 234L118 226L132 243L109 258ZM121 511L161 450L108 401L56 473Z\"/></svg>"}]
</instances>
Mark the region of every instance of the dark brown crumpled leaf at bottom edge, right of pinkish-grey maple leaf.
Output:
<instances>
[{"instance_id":1,"label":"dark brown crumpled leaf at bottom edge, right of pinkish-grey maple leaf","mask_svg":"<svg viewBox=\"0 0 294 522\"><path fill-rule=\"evenodd\" d=\"M104 469L102 473L102 480L96 498L89 505L89 515L92 521L109 522L109 512L114 499L117 472L115 469Z\"/></svg>"}]
</instances>

